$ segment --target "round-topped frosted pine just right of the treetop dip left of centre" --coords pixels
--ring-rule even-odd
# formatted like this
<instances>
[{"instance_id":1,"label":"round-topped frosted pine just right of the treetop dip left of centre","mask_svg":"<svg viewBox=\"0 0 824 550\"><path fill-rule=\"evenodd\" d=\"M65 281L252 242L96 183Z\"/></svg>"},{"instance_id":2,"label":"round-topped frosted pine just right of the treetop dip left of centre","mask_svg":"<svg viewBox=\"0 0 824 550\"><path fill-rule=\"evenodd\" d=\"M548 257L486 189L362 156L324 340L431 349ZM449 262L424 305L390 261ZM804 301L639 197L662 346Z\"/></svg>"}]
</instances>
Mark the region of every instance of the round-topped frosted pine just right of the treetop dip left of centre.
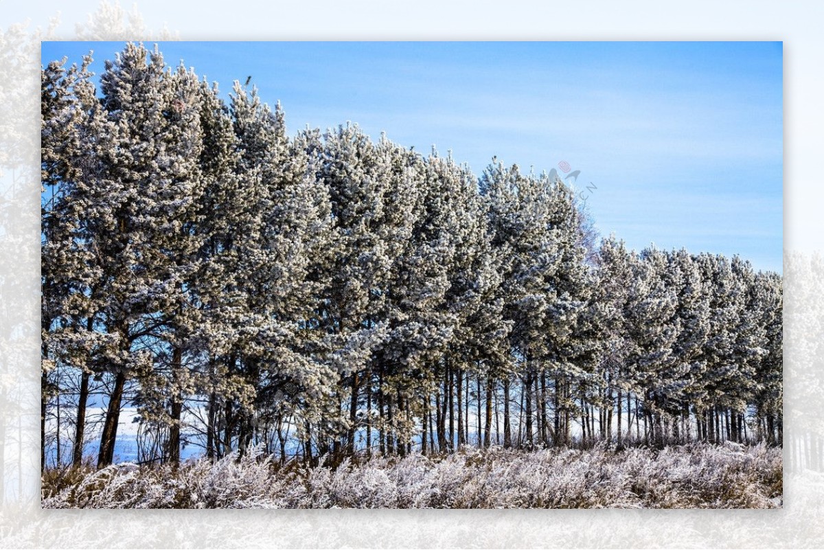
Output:
<instances>
[{"instance_id":1,"label":"round-topped frosted pine just right of the treetop dip left of centre","mask_svg":"<svg viewBox=\"0 0 824 550\"><path fill-rule=\"evenodd\" d=\"M393 402L385 402L382 391L384 365L376 363L376 371L371 363L390 323L382 304L389 292L391 266L408 245L419 202L414 180L409 179L412 159L393 154L394 147L388 140L376 145L357 125L347 124L327 131L322 149L316 151L317 175L329 193L332 224L320 271L324 288L316 319L324 333L320 344L328 365L339 375L340 390L323 415L326 425L318 437L324 451L344 445L353 450L362 424L372 437L371 414L365 422L358 417L361 399L371 399L372 376L377 378L382 448L391 426Z\"/></svg>"}]
</instances>

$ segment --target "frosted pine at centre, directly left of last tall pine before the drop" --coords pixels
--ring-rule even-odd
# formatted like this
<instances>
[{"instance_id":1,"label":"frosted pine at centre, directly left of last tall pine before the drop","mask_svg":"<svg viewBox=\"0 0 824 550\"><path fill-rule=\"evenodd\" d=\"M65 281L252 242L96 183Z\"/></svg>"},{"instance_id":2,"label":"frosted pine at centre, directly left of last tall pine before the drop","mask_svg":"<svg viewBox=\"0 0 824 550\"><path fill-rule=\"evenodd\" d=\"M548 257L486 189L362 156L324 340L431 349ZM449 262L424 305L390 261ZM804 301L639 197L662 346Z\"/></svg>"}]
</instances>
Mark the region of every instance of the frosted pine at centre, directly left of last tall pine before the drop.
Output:
<instances>
[{"instance_id":1,"label":"frosted pine at centre, directly left of last tall pine before the drop","mask_svg":"<svg viewBox=\"0 0 824 550\"><path fill-rule=\"evenodd\" d=\"M466 384L480 361L473 347L479 342L471 341L468 322L480 308L480 297L491 297L497 284L480 281L477 271L485 218L474 176L436 151L421 168L416 181L422 202L410 246L393 266L387 294L394 322L385 347L389 354L383 357L391 359L391 380L404 403L407 433L401 450L404 442L410 445L413 416L419 417L425 437L433 393L439 445L467 443ZM492 340L485 344L494 343L495 330L486 334Z\"/></svg>"}]
</instances>

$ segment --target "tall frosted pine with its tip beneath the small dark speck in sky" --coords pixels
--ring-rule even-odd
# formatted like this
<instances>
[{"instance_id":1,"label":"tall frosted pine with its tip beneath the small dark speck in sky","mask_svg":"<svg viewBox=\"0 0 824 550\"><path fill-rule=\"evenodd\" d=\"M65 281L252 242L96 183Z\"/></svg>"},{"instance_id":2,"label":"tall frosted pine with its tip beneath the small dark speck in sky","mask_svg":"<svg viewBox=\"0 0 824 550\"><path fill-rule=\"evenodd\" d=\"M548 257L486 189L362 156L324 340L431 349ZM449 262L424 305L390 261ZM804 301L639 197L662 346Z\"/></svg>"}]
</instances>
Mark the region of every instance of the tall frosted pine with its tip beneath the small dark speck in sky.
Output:
<instances>
[{"instance_id":1,"label":"tall frosted pine with its tip beneath the small dark speck in sky","mask_svg":"<svg viewBox=\"0 0 824 550\"><path fill-rule=\"evenodd\" d=\"M236 423L242 452L274 420L269 413L282 413L273 401L288 394L293 403L302 403L293 413L305 425L319 421L334 387L335 373L325 357L307 350L322 298L316 275L330 249L330 202L316 178L320 165L311 158L309 143L305 137L289 142L279 106L269 110L254 89L248 93L236 82L231 112L245 207L244 225L232 235L234 280L243 304L228 369L243 373L255 401L237 414L227 408L226 426L231 438ZM255 419L255 410L268 413Z\"/></svg>"}]
</instances>

